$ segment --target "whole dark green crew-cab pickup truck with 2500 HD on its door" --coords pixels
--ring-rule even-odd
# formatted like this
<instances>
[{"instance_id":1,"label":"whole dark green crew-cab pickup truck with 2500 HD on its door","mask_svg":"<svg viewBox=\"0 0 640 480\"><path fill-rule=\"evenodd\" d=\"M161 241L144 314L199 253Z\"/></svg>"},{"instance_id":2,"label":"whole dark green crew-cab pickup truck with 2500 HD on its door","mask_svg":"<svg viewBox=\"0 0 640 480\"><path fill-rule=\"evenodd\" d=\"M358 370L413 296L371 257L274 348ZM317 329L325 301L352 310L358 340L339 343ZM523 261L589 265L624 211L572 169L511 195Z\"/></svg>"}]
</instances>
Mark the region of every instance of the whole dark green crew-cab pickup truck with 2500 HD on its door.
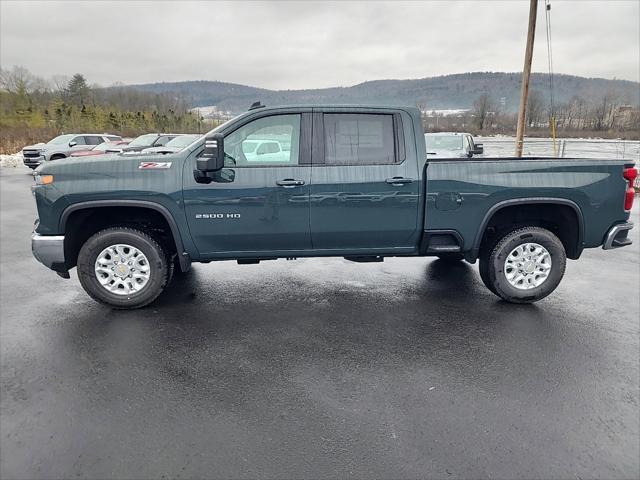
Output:
<instances>
[{"instance_id":1,"label":"whole dark green crew-cab pickup truck with 2500 HD on its door","mask_svg":"<svg viewBox=\"0 0 640 480\"><path fill-rule=\"evenodd\" d=\"M273 138L278 158L244 153ZM326 256L479 260L491 292L530 303L567 258L631 243L633 163L425 152L415 108L252 108L177 153L39 167L33 254L115 308L151 303L192 262Z\"/></svg>"}]
</instances>

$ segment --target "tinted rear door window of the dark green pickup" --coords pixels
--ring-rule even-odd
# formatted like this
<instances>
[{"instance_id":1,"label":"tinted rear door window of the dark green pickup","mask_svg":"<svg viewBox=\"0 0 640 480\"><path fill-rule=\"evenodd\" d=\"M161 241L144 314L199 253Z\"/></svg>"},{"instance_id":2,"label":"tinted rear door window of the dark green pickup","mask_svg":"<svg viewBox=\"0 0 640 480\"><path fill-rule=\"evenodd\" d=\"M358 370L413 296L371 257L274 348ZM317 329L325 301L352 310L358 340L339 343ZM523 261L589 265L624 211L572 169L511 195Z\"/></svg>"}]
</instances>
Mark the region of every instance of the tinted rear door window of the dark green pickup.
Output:
<instances>
[{"instance_id":1,"label":"tinted rear door window of the dark green pickup","mask_svg":"<svg viewBox=\"0 0 640 480\"><path fill-rule=\"evenodd\" d=\"M325 165L396 163L393 115L324 115Z\"/></svg>"}]
</instances>

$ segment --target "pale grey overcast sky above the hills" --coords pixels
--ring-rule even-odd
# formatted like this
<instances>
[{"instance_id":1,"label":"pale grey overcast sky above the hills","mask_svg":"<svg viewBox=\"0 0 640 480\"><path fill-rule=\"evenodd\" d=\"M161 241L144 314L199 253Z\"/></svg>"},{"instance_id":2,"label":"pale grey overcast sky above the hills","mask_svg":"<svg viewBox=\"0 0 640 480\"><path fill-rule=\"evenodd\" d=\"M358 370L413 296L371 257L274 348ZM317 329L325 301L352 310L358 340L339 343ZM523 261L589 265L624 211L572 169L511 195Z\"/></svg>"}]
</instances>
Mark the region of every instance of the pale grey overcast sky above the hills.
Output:
<instances>
[{"instance_id":1,"label":"pale grey overcast sky above the hills","mask_svg":"<svg viewBox=\"0 0 640 480\"><path fill-rule=\"evenodd\" d=\"M640 81L640 1L552 0L554 70ZM91 83L221 80L273 89L521 71L528 1L0 0L0 64ZM547 71L544 0L534 71Z\"/></svg>"}]
</instances>

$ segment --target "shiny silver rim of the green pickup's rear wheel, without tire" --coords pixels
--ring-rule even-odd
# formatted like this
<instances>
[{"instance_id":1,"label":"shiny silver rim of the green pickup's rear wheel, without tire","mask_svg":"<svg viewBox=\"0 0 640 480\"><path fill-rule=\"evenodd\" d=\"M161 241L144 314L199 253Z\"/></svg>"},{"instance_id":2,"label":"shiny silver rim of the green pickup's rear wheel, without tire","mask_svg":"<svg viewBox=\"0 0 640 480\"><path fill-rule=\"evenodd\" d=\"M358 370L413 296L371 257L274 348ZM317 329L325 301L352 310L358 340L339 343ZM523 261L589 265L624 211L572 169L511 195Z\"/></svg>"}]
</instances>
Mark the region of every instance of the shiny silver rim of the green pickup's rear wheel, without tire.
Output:
<instances>
[{"instance_id":1,"label":"shiny silver rim of the green pickup's rear wheel, without tire","mask_svg":"<svg viewBox=\"0 0 640 480\"><path fill-rule=\"evenodd\" d=\"M539 287L550 273L551 255L546 248L537 243L518 245L504 261L507 281L519 290Z\"/></svg>"}]
</instances>

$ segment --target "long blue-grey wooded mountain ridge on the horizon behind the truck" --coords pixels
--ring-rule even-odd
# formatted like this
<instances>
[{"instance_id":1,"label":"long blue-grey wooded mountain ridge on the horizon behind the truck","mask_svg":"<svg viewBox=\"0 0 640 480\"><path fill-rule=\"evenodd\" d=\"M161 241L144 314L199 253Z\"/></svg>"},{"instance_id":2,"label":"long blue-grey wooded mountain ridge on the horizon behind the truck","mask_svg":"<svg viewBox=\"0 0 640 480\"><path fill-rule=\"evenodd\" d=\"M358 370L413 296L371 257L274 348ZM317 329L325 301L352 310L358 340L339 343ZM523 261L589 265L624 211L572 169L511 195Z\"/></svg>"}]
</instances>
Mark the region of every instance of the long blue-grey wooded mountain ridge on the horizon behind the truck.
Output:
<instances>
[{"instance_id":1,"label":"long blue-grey wooded mountain ridge on the horizon behind the truck","mask_svg":"<svg viewBox=\"0 0 640 480\"><path fill-rule=\"evenodd\" d=\"M427 109L471 108L483 93L489 94L501 109L515 111L520 98L521 73L471 72L413 80L372 80L351 87L308 90L269 90L219 81L184 81L130 85L126 88L152 93L174 94L193 107L216 105L232 113L245 111L253 102L264 105L306 103L375 103L383 105L422 105ZM531 90L549 97L549 76L531 75ZM564 103L574 95L596 101L611 93L620 103L640 105L640 83L629 80L554 75L554 99Z\"/></svg>"}]
</instances>

